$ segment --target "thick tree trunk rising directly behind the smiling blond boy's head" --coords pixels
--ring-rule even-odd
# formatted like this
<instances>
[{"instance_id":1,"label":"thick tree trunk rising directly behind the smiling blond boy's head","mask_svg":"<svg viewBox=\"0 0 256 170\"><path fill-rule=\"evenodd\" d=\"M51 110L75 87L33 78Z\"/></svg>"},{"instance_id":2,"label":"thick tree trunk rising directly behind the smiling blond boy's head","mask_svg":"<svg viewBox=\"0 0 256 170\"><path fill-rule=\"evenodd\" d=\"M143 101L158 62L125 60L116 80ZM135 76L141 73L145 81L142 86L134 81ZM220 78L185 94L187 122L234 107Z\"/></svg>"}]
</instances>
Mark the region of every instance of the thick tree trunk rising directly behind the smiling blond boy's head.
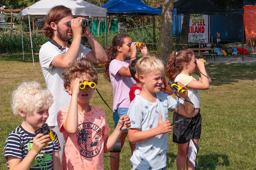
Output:
<instances>
[{"instance_id":1,"label":"thick tree trunk rising directly behind the smiling blond boy's head","mask_svg":"<svg viewBox=\"0 0 256 170\"><path fill-rule=\"evenodd\" d=\"M172 53L173 0L163 0L157 57L166 65Z\"/></svg>"}]
</instances>

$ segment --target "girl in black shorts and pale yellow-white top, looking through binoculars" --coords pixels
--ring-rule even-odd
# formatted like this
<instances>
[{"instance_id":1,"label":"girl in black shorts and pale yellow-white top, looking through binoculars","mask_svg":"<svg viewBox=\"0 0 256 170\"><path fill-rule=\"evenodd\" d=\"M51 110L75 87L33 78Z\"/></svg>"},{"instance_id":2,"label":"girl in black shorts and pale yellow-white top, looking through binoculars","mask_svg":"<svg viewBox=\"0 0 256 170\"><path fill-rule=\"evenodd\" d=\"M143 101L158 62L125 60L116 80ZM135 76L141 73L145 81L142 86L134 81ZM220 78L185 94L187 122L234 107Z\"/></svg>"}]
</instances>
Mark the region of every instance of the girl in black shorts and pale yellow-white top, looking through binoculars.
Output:
<instances>
[{"instance_id":1,"label":"girl in black shorts and pale yellow-white top, looking through binoculars","mask_svg":"<svg viewBox=\"0 0 256 170\"><path fill-rule=\"evenodd\" d=\"M195 70L198 71L200 76L194 74ZM177 143L178 147L176 158L177 170L184 170L185 165L187 170L193 170L195 167L186 155L189 140L192 139L198 145L198 140L201 136L200 97L198 90L208 89L211 79L205 70L204 60L195 59L195 55L191 50L172 52L167 63L166 75L173 82L181 82L186 86L188 97L195 105L195 112L190 115L173 113L173 122L180 119L182 121L175 123L172 136L172 142ZM179 102L183 103L183 100L179 99Z\"/></svg>"}]
</instances>

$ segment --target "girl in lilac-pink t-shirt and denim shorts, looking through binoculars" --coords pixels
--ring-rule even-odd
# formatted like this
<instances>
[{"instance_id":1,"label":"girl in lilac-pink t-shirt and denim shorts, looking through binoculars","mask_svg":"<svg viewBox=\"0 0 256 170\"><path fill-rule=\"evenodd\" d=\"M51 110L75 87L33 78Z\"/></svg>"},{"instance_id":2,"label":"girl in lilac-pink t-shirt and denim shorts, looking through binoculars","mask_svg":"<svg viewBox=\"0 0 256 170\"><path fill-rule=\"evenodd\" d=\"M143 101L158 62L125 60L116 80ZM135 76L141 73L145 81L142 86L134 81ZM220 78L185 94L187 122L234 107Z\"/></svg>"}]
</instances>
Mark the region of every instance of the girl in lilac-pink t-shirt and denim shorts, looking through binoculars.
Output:
<instances>
[{"instance_id":1,"label":"girl in lilac-pink t-shirt and denim shorts, looking through binoculars","mask_svg":"<svg viewBox=\"0 0 256 170\"><path fill-rule=\"evenodd\" d=\"M111 46L107 50L108 62L105 64L104 72L105 78L111 82L113 86L113 119L116 127L119 118L122 115L127 114L130 106L129 91L131 85L136 82L131 77L129 65L131 61L136 59L137 54L137 42L132 42L128 34L117 34L113 40ZM142 55L147 55L148 50L145 44L138 47ZM129 60L125 60L126 57L130 57ZM121 140L121 147L125 142L127 136L127 130L124 130L119 139ZM135 149L135 144L131 144L131 153ZM111 153L112 156L116 156L116 159L111 158L111 170L119 169L119 153Z\"/></svg>"}]
</instances>

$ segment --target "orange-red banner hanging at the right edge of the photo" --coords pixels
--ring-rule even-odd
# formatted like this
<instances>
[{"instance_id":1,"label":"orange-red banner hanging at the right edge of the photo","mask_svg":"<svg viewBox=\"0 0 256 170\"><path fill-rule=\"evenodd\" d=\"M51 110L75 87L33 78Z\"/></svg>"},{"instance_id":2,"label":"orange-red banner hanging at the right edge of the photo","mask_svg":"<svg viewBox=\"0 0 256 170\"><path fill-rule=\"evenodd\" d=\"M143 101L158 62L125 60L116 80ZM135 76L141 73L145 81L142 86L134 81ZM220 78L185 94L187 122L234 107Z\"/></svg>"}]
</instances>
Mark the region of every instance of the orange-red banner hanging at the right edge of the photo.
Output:
<instances>
[{"instance_id":1,"label":"orange-red banner hanging at the right edge of the photo","mask_svg":"<svg viewBox=\"0 0 256 170\"><path fill-rule=\"evenodd\" d=\"M244 6L244 31L246 40L256 37L256 6Z\"/></svg>"}]
</instances>

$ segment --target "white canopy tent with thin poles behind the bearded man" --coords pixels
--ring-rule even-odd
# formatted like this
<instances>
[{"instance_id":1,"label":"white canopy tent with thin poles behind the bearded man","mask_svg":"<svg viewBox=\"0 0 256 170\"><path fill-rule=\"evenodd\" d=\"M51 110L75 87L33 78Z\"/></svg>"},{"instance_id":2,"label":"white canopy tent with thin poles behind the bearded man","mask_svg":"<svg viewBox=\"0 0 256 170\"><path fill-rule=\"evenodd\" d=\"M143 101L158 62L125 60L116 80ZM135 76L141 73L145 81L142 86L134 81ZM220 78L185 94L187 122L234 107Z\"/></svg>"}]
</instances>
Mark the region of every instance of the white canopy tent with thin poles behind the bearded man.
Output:
<instances>
[{"instance_id":1,"label":"white canopy tent with thin poles behind the bearded man","mask_svg":"<svg viewBox=\"0 0 256 170\"><path fill-rule=\"evenodd\" d=\"M30 27L30 17L31 18L42 18L48 14L49 10L54 6L63 5L72 10L74 16L90 16L90 17L105 17L107 21L107 9L102 8L91 3L87 3L84 0L40 0L37 3L34 3L32 6L29 6L22 11L20 11L21 18L21 39L22 39L22 51L23 51L23 60L24 60L24 49L23 49L23 32L22 32L22 20L24 18L29 19L29 35L31 42L32 58L33 65L34 63L34 54L33 54L33 45L31 37L31 27ZM106 40L105 45L107 45L107 22L105 22L105 31L106 31Z\"/></svg>"}]
</instances>

